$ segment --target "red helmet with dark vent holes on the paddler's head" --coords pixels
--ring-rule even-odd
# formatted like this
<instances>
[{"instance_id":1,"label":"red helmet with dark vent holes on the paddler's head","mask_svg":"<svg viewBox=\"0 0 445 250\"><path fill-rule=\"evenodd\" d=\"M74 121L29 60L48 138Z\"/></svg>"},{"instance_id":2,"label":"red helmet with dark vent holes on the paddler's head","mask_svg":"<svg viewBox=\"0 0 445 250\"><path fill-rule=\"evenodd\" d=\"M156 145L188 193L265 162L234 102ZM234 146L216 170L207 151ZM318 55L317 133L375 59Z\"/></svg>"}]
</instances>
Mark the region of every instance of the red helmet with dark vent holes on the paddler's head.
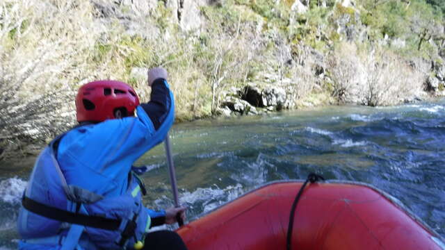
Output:
<instances>
[{"instance_id":1,"label":"red helmet with dark vent holes on the paddler's head","mask_svg":"<svg viewBox=\"0 0 445 250\"><path fill-rule=\"evenodd\" d=\"M86 83L77 92L77 122L103 122L115 119L115 110L134 115L139 98L127 83L120 81L93 81Z\"/></svg>"}]
</instances>

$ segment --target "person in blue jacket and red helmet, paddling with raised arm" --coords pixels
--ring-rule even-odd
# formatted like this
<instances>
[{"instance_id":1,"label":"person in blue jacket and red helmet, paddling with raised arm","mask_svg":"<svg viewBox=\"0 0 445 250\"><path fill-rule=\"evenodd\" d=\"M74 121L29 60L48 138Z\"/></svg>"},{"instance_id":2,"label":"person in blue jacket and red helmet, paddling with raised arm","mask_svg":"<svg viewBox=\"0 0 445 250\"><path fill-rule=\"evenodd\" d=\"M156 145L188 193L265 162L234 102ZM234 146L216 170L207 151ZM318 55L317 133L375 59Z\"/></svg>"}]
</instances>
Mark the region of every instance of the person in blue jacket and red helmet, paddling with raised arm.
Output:
<instances>
[{"instance_id":1,"label":"person in blue jacket and red helmet, paddling with raised arm","mask_svg":"<svg viewBox=\"0 0 445 250\"><path fill-rule=\"evenodd\" d=\"M186 208L145 208L143 171L132 167L175 119L167 78L161 67L148 71L151 98L142 104L120 81L79 88L79 125L44 148L24 191L19 249L186 249L173 231L149 233L184 219Z\"/></svg>"}]
</instances>

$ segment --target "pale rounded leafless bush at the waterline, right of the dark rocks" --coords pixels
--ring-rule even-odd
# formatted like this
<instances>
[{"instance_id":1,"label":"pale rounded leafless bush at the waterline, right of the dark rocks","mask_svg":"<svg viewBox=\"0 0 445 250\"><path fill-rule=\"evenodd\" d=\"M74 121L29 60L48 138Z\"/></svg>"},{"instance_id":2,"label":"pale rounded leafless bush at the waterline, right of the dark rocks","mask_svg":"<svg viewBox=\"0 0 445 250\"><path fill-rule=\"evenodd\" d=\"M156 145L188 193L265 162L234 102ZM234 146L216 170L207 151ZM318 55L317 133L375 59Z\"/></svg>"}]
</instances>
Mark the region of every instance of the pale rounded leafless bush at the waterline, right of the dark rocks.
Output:
<instances>
[{"instance_id":1,"label":"pale rounded leafless bush at the waterline, right of the dark rocks","mask_svg":"<svg viewBox=\"0 0 445 250\"><path fill-rule=\"evenodd\" d=\"M332 94L340 101L366 106L387 106L416 97L425 75L417 72L394 53L377 47L359 51L343 43L327 60Z\"/></svg>"}]
</instances>

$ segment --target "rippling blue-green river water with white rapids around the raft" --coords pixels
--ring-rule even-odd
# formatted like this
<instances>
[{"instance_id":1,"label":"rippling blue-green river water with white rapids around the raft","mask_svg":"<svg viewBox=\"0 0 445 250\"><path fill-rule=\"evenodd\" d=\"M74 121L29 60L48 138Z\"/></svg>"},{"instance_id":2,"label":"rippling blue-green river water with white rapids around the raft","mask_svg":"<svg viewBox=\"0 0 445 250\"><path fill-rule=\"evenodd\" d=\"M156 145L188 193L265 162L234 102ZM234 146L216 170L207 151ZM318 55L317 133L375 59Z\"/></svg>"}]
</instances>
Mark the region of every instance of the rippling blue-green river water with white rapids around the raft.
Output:
<instances>
[{"instance_id":1,"label":"rippling blue-green river water with white rapids around the raft","mask_svg":"<svg viewBox=\"0 0 445 250\"><path fill-rule=\"evenodd\" d=\"M181 203L193 220L269 181L370 183L445 237L445 100L388 108L333 106L175 125L170 132ZM0 165L0 250L15 249L19 200L33 159ZM165 153L138 160L152 208L172 205Z\"/></svg>"}]
</instances>

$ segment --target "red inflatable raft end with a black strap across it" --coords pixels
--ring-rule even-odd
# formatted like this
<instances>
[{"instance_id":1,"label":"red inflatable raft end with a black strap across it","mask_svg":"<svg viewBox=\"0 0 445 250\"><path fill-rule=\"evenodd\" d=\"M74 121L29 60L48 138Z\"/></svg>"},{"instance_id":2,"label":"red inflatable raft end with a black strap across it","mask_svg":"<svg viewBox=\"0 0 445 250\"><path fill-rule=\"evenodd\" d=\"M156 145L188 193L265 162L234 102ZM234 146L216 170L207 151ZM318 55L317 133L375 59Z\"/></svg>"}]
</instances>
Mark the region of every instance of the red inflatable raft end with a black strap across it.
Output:
<instances>
[{"instance_id":1,"label":"red inflatable raft end with a black strap across it","mask_svg":"<svg viewBox=\"0 0 445 250\"><path fill-rule=\"evenodd\" d=\"M188 249L286 249L300 181L269 183L177 230ZM396 199L364 183L307 185L292 249L445 249L443 238Z\"/></svg>"}]
</instances>

